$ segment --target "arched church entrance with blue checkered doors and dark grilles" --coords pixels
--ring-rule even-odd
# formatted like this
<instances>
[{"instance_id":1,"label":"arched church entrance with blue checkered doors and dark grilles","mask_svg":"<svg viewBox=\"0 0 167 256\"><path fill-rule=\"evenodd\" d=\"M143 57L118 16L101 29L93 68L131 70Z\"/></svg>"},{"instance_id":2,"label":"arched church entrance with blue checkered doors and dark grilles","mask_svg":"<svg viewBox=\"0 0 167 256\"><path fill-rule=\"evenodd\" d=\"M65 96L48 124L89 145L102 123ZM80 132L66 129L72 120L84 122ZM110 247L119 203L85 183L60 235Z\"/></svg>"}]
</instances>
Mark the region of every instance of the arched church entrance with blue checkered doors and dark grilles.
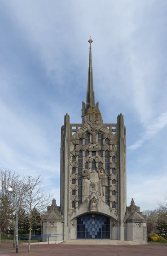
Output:
<instances>
[{"instance_id":1,"label":"arched church entrance with blue checkered doors and dark grilles","mask_svg":"<svg viewBox=\"0 0 167 256\"><path fill-rule=\"evenodd\" d=\"M86 214L77 218L77 239L109 238L109 217L100 214Z\"/></svg>"}]
</instances>

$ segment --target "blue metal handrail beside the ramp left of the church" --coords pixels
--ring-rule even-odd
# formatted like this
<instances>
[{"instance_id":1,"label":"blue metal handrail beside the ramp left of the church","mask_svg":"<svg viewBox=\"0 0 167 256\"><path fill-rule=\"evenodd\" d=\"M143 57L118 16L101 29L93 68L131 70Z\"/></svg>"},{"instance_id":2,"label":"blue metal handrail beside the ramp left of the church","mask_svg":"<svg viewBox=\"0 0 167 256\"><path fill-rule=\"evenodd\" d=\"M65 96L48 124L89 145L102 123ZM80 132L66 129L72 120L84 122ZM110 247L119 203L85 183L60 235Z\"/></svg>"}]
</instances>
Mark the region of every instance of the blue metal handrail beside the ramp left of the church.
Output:
<instances>
[{"instance_id":1,"label":"blue metal handrail beside the ramp left of the church","mask_svg":"<svg viewBox=\"0 0 167 256\"><path fill-rule=\"evenodd\" d=\"M49 244L49 238L54 238L55 237L55 244L57 244L57 237L63 237L63 241L64 241L64 236L65 234L40 234L40 235L32 235L31 236L31 240L33 239L38 239L38 244L40 244L40 238L43 240L43 238L46 238L46 242L48 241ZM29 240L29 235L20 235L18 236L18 239L25 239L25 240Z\"/></svg>"}]
</instances>

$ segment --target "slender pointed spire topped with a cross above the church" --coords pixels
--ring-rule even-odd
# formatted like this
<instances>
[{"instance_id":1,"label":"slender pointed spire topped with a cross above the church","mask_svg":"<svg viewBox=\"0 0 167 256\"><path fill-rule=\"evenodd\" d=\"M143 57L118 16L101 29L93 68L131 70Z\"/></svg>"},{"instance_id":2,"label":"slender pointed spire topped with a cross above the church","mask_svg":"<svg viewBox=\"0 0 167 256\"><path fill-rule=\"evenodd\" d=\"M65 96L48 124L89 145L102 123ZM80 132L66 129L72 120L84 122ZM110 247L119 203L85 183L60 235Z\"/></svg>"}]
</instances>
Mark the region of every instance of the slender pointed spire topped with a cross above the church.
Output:
<instances>
[{"instance_id":1,"label":"slender pointed spire topped with a cross above the church","mask_svg":"<svg viewBox=\"0 0 167 256\"><path fill-rule=\"evenodd\" d=\"M89 46L89 69L88 69L88 81L87 81L87 94L86 94L86 109L95 105L94 91L93 91L93 73L92 73L92 38L88 40Z\"/></svg>"}]
</instances>

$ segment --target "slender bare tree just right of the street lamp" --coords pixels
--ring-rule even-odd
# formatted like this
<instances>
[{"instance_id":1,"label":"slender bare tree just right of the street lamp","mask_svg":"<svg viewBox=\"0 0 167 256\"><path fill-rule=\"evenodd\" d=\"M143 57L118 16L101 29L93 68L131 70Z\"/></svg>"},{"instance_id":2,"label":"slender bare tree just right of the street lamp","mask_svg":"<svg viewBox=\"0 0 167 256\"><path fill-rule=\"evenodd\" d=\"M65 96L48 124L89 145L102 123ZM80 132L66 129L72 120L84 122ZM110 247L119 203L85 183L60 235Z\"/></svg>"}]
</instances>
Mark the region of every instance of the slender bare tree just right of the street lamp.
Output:
<instances>
[{"instance_id":1,"label":"slender bare tree just right of the street lamp","mask_svg":"<svg viewBox=\"0 0 167 256\"><path fill-rule=\"evenodd\" d=\"M50 201L50 194L48 195L41 187L42 178L38 177L24 177L25 185L27 186L26 196L25 196L25 206L24 209L29 216L29 247L28 253L30 253L31 244L31 230L33 225L38 225L39 220L36 218L36 211L43 211Z\"/></svg>"}]
</instances>

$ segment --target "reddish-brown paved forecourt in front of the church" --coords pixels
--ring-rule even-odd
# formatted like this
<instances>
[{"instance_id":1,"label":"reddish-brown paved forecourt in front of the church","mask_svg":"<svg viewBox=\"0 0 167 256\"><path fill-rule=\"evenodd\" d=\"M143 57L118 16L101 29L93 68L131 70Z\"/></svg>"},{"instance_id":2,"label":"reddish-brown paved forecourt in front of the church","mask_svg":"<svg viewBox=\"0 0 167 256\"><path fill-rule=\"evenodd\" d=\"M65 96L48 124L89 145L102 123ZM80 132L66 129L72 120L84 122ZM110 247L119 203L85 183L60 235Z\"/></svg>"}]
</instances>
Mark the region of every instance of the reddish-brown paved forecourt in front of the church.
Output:
<instances>
[{"instance_id":1,"label":"reddish-brown paved forecourt in front of the church","mask_svg":"<svg viewBox=\"0 0 167 256\"><path fill-rule=\"evenodd\" d=\"M28 256L27 245L19 244L18 256ZM12 244L0 245L0 256L16 256ZM167 256L167 245L32 245L30 256Z\"/></svg>"}]
</instances>

